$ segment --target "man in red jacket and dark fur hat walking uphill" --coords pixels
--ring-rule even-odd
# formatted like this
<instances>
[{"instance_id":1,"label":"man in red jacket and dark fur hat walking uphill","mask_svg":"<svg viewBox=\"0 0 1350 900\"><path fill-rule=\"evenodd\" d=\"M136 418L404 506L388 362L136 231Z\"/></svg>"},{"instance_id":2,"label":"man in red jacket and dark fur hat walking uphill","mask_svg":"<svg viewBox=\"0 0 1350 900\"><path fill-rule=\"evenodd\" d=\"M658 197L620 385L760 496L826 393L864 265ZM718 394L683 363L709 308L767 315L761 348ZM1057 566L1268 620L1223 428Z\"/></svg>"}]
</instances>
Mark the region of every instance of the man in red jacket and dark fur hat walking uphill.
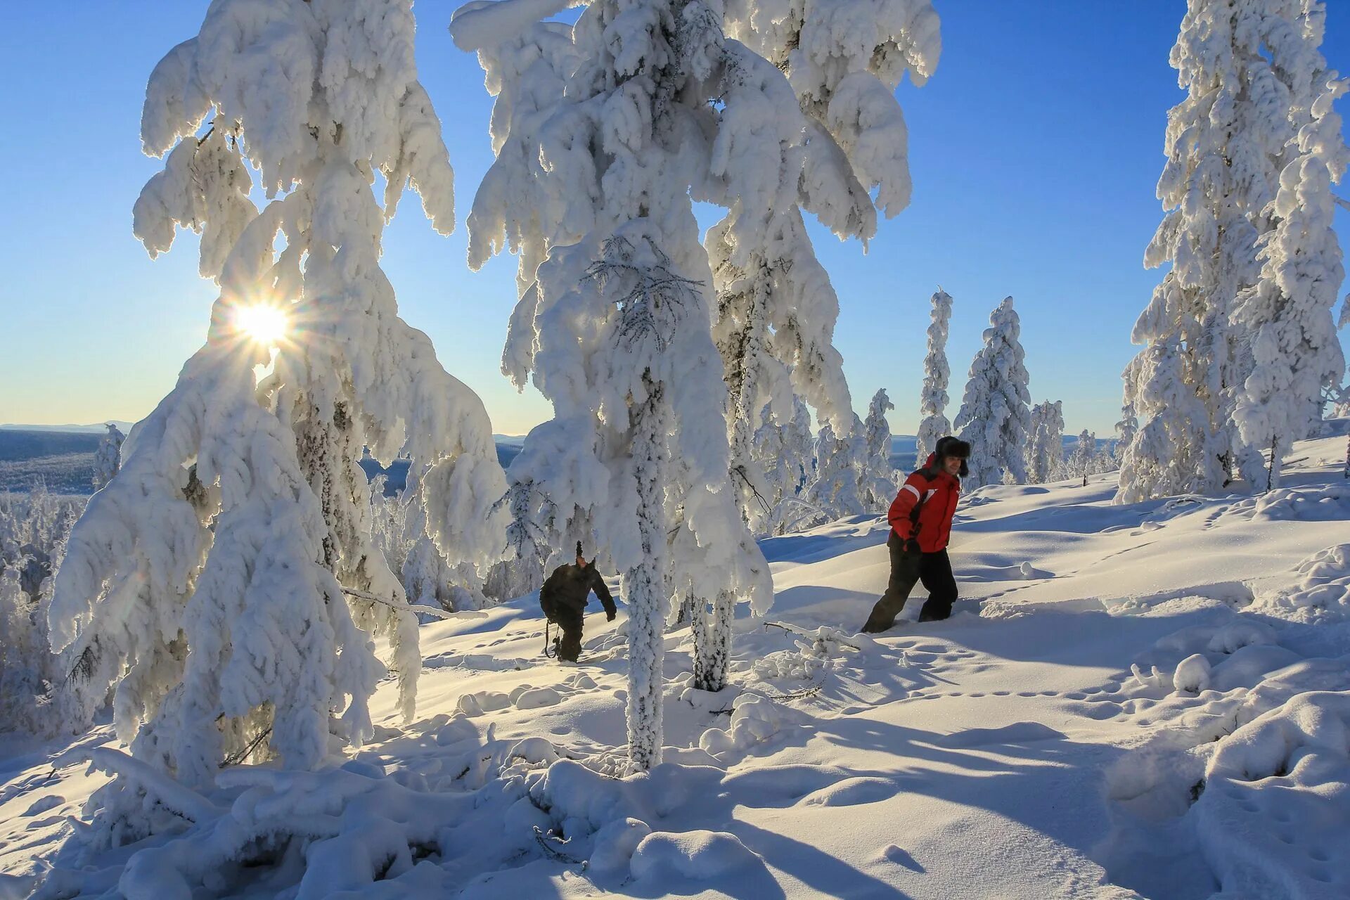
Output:
<instances>
[{"instance_id":1,"label":"man in red jacket and dark fur hat walking uphill","mask_svg":"<svg viewBox=\"0 0 1350 900\"><path fill-rule=\"evenodd\" d=\"M923 468L905 479L891 511L891 582L886 594L872 607L864 631L884 631L895 625L917 582L923 582L929 596L919 610L919 622L945 619L956 602L956 576L946 557L952 536L952 515L961 497L961 478L969 470L965 460L971 445L948 434L937 443Z\"/></svg>"}]
</instances>

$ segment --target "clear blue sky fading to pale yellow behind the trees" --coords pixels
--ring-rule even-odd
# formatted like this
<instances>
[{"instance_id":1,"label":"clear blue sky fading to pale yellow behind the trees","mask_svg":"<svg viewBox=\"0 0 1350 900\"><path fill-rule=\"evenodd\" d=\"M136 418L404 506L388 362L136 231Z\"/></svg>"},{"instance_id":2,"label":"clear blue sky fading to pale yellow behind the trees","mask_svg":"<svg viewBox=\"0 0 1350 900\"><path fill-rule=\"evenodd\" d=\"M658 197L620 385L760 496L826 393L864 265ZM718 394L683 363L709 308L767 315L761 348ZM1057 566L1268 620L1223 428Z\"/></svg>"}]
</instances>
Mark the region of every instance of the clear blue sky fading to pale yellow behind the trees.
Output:
<instances>
[{"instance_id":1,"label":"clear blue sky fading to pale yellow behind the trees","mask_svg":"<svg viewBox=\"0 0 1350 900\"><path fill-rule=\"evenodd\" d=\"M205 336L215 291L197 277L194 235L181 232L170 254L150 260L131 235L131 206L159 167L140 154L146 78L196 34L207 5L55 0L7 11L0 422L140 418ZM477 58L446 30L455 5L417 1L417 51L463 221L491 162L491 99ZM1350 70L1350 4L1328 5L1323 50ZM899 89L913 204L882 224L865 255L856 242L813 235L840 294L836 344L855 406L865 412L886 387L892 429L913 433L927 301L941 283L954 298L949 416L990 310L1011 294L1034 399L1062 399L1071 432L1108 436L1119 374L1135 352L1130 328L1161 277L1141 260L1161 217L1154 188L1166 111L1181 97L1168 51L1185 4L934 7L942 61L922 89ZM1338 225L1350 233L1350 216ZM470 273L463 225L440 237L416 202L400 208L385 247L404 317L479 393L494 429L524 433L547 418L543 398L517 393L498 368L514 258Z\"/></svg>"}]
</instances>

